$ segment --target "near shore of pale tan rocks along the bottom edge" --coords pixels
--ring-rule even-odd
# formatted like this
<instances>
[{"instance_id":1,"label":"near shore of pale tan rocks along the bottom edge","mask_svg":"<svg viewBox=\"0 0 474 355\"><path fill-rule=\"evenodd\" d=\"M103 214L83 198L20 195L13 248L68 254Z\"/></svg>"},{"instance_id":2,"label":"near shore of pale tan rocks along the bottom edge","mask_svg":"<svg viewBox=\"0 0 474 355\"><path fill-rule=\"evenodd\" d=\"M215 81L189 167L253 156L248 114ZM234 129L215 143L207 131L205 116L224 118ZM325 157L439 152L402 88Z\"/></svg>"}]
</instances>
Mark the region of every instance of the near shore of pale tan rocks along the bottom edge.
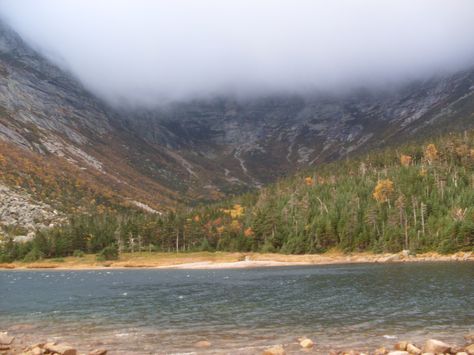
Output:
<instances>
[{"instance_id":1,"label":"near shore of pale tan rocks along the bottom edge","mask_svg":"<svg viewBox=\"0 0 474 355\"><path fill-rule=\"evenodd\" d=\"M431 338L429 336L418 339L418 341L409 340L409 338L390 339L385 342L374 343L366 339L362 340L358 346L343 344L321 344L317 338L308 338L306 336L286 339L284 342L277 340L269 341L267 344L254 344L245 347L228 348L222 344L216 344L207 338L194 339L184 347L185 350L170 350L169 354L230 354L232 351L245 355L285 355L285 354L329 354L329 355L420 355L420 354L446 354L446 355L470 355L474 354L474 333L464 333L459 336L463 340L453 341L453 337L448 340L446 337ZM33 340L36 339L36 340ZM447 341L447 342L445 342ZM127 354L129 351L121 350L110 343L90 343L74 344L59 339L43 338L38 341L34 336L25 336L17 332L0 332L0 353L5 355L112 355ZM234 345L235 346L235 345ZM239 345L237 345L239 346ZM182 346L180 347L182 348ZM139 354L152 354L154 351L139 350Z\"/></svg>"}]
</instances>

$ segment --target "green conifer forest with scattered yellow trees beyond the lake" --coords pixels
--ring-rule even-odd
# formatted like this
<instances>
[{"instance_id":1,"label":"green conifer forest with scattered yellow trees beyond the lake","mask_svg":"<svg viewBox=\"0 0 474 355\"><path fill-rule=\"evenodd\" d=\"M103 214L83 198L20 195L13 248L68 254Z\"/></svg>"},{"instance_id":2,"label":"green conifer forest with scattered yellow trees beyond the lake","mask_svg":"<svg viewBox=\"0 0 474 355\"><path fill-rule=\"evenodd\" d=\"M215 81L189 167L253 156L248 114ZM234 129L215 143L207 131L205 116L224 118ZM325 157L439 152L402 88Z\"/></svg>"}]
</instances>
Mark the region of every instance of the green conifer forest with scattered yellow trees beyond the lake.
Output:
<instances>
[{"instance_id":1,"label":"green conifer forest with scattered yellow trees beyond the lake","mask_svg":"<svg viewBox=\"0 0 474 355\"><path fill-rule=\"evenodd\" d=\"M5 237L0 261L112 250L450 253L474 250L474 131L321 165L258 192L165 215L91 211Z\"/></svg>"}]
</instances>

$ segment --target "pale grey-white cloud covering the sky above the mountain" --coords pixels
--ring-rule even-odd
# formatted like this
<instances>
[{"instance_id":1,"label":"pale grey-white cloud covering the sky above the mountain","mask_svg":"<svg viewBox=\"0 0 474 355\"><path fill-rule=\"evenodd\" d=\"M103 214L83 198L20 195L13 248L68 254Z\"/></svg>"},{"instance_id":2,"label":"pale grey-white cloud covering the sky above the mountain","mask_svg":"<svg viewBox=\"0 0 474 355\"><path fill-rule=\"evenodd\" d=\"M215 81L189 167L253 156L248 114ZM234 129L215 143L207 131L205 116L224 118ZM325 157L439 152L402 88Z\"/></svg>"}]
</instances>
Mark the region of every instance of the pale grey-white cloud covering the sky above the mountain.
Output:
<instances>
[{"instance_id":1,"label":"pale grey-white cloud covering the sky above the mountain","mask_svg":"<svg viewBox=\"0 0 474 355\"><path fill-rule=\"evenodd\" d=\"M111 102L378 85L474 65L474 0L0 0Z\"/></svg>"}]
</instances>

